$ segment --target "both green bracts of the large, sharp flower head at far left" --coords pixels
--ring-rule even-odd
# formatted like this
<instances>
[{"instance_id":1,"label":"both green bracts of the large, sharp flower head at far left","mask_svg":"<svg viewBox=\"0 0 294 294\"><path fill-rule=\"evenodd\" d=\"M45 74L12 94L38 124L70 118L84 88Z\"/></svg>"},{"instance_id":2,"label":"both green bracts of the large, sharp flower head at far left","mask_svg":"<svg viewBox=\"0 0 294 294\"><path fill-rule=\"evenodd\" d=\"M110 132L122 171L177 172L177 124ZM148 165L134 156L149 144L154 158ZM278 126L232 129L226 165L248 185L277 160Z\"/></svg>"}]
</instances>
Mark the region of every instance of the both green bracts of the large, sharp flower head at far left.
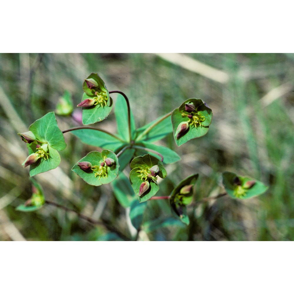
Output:
<instances>
[{"instance_id":1,"label":"both green bracts of the large, sharp flower head at far left","mask_svg":"<svg viewBox=\"0 0 294 294\"><path fill-rule=\"evenodd\" d=\"M32 177L38 173L44 173L59 166L60 155L57 150L64 150L66 143L63 133L57 126L54 112L49 112L32 123L29 126L29 131L36 137L36 141L27 143L29 155L40 153L40 149L37 149L37 144L41 147L45 146L45 151L48 153L47 156L39 158L35 163L30 165L30 176Z\"/></svg>"}]
</instances>

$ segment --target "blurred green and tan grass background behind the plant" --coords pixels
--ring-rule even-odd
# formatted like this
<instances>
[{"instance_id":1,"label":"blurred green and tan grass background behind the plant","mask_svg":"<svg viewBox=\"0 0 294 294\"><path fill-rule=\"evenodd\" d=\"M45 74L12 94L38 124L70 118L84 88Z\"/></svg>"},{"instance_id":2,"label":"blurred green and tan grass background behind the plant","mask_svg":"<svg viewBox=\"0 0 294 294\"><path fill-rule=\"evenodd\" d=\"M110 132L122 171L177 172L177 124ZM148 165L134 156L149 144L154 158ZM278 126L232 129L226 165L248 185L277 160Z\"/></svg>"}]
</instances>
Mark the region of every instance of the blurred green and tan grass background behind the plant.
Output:
<instances>
[{"instance_id":1,"label":"blurred green and tan grass background behind the plant","mask_svg":"<svg viewBox=\"0 0 294 294\"><path fill-rule=\"evenodd\" d=\"M190 207L189 226L153 225L151 230L150 222L170 217L171 211L167 201L148 201L139 240L294 240L294 54L0 54L0 240L117 239L104 226L53 206L15 211L31 197L29 169L21 166L27 149L17 133L54 111L66 90L78 104L83 79L91 72L109 91L126 93L137 127L188 98L200 98L212 108L206 136L181 147L172 135L156 143L182 158L166 167L168 177L157 195L168 195L192 173L200 174L195 200L224 192L223 171L269 186L256 198L225 196ZM57 121L61 130L75 126L71 117ZM99 127L116 131L113 112ZM128 209L119 205L111 186L89 186L71 172L97 148L70 133L65 140L61 165L35 177L46 199L129 235Z\"/></svg>"}]
</instances>

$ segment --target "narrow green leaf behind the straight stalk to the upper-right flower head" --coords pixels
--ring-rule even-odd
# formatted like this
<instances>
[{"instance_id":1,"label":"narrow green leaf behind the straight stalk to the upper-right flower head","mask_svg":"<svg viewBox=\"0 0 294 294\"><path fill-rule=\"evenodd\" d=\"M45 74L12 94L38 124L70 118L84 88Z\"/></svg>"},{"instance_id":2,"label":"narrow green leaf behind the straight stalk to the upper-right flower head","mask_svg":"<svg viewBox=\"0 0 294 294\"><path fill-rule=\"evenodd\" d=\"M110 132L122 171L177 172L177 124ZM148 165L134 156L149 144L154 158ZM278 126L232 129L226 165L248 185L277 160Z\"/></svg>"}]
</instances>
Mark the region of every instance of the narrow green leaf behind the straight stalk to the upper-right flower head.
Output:
<instances>
[{"instance_id":1,"label":"narrow green leaf behind the straight stalk to the upper-right flower head","mask_svg":"<svg viewBox=\"0 0 294 294\"><path fill-rule=\"evenodd\" d=\"M144 141L144 142L155 142L158 140L161 140L162 138L166 137L169 133L172 133L173 131L173 125L171 123L170 116L164 118L162 121L160 121L165 115L159 117L158 119L152 121L151 123L146 124L145 126L139 128L137 130L137 141ZM156 122L160 121L156 126L152 127ZM143 132L145 130L150 129L151 130L146 133L146 135L142 136ZM141 138L140 138L141 137Z\"/></svg>"}]
</instances>

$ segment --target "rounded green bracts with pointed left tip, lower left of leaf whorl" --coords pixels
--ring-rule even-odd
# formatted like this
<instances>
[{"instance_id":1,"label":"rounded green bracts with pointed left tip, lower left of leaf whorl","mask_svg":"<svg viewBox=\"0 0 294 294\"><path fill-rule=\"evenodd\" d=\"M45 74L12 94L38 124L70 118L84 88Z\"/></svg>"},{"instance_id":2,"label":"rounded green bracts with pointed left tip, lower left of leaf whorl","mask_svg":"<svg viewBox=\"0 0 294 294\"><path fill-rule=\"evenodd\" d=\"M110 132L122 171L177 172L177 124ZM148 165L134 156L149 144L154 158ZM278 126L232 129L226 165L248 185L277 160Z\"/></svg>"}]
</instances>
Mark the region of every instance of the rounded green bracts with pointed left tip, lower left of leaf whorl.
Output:
<instances>
[{"instance_id":1,"label":"rounded green bracts with pointed left tip, lower left of leaf whorl","mask_svg":"<svg viewBox=\"0 0 294 294\"><path fill-rule=\"evenodd\" d=\"M106 158L111 158L114 163L111 166L107 166L105 163ZM82 170L79 166L79 162L87 161L92 165L92 169L89 171ZM101 163L104 165L101 166ZM86 183L93 186L100 186L103 184L111 183L118 176L118 158L116 154L108 149L104 149L100 152L91 151L81 160L79 160L72 171L74 171L78 176L80 176Z\"/></svg>"}]
</instances>

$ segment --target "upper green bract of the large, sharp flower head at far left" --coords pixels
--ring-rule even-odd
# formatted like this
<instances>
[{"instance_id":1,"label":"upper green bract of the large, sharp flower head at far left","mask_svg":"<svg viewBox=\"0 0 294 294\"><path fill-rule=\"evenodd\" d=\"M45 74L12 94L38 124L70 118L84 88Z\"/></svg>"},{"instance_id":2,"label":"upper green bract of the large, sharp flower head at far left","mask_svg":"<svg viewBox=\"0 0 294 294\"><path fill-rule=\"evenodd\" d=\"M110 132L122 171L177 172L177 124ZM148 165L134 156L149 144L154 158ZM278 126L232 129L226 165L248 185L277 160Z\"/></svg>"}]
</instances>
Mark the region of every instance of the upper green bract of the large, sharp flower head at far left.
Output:
<instances>
[{"instance_id":1,"label":"upper green bract of the large, sharp flower head at far left","mask_svg":"<svg viewBox=\"0 0 294 294\"><path fill-rule=\"evenodd\" d=\"M56 150L61 151L66 148L64 136L57 126L54 112L49 112L37 119L29 126L29 131L36 136L38 141L48 143Z\"/></svg>"}]
</instances>

